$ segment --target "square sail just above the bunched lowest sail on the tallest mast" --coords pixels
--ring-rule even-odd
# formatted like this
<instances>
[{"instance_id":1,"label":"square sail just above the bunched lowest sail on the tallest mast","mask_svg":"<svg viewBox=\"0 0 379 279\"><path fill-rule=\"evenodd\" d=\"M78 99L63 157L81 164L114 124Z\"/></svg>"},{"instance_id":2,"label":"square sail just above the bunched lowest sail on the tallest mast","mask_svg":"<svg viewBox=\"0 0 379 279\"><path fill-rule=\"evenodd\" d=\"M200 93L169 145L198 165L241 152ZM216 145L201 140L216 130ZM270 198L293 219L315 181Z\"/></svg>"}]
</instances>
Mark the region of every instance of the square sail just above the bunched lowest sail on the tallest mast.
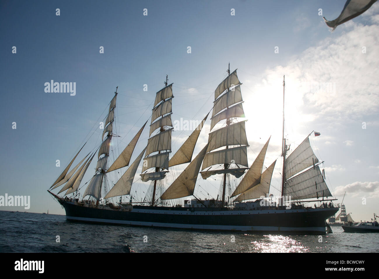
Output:
<instances>
[{"instance_id":1,"label":"square sail just above the bunched lowest sail on the tallest mast","mask_svg":"<svg viewBox=\"0 0 379 279\"><path fill-rule=\"evenodd\" d=\"M231 163L247 167L247 146L233 147L206 153L201 170L216 164Z\"/></svg>"}]
</instances>

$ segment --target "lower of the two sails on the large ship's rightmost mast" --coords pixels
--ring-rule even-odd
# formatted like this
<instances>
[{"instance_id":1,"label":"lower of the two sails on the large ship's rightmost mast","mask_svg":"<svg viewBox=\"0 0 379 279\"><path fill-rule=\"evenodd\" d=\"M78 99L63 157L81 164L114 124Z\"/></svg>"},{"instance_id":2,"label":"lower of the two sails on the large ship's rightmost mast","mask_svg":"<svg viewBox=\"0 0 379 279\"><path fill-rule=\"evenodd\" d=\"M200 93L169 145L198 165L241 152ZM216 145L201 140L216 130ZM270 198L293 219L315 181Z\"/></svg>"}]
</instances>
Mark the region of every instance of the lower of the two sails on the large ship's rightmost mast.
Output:
<instances>
[{"instance_id":1,"label":"lower of the two sails on the large ship's rightmost mast","mask_svg":"<svg viewBox=\"0 0 379 279\"><path fill-rule=\"evenodd\" d=\"M286 181L284 192L293 200L332 196L318 166Z\"/></svg>"}]
</instances>

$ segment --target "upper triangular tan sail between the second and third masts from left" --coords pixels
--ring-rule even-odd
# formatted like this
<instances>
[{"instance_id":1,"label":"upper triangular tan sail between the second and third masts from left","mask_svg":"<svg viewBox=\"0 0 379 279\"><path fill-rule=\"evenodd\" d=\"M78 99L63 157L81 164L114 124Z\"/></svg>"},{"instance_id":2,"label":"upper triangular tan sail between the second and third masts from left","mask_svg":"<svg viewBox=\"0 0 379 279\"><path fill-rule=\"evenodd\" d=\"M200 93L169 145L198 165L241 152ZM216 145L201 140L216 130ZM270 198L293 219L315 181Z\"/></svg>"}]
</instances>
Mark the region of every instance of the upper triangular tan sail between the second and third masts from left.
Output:
<instances>
[{"instance_id":1,"label":"upper triangular tan sail between the second and third masts from left","mask_svg":"<svg viewBox=\"0 0 379 279\"><path fill-rule=\"evenodd\" d=\"M208 113L209 114L209 113ZM196 127L196 129L191 133L187 140L180 146L179 150L171 157L168 165L169 167L189 163L192 160L193 150L197 139L199 138L202 127L207 120L208 114L205 116L203 121Z\"/></svg>"}]
</instances>

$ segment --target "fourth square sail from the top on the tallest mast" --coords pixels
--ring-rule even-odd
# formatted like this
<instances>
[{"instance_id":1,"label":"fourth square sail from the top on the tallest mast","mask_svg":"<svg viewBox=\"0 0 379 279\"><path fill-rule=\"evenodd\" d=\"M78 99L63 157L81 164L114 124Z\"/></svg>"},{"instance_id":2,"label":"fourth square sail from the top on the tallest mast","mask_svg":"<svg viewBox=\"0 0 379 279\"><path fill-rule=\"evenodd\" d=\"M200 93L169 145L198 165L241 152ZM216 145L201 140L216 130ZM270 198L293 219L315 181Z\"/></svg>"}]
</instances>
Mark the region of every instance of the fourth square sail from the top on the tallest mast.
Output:
<instances>
[{"instance_id":1,"label":"fourth square sail from the top on the tallest mast","mask_svg":"<svg viewBox=\"0 0 379 279\"><path fill-rule=\"evenodd\" d=\"M237 122L209 133L208 143L207 152L227 145L247 145L245 121Z\"/></svg>"}]
</instances>

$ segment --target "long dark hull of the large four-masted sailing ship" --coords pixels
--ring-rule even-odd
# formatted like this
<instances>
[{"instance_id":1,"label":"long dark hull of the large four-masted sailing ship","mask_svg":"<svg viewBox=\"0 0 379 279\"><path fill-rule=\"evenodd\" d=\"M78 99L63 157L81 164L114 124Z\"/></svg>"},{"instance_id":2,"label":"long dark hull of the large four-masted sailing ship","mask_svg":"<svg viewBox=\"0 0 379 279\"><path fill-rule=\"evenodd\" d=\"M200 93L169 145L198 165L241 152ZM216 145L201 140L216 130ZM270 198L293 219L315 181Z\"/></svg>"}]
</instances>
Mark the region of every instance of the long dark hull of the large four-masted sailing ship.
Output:
<instances>
[{"instance_id":1,"label":"long dark hull of the large four-masted sailing ship","mask_svg":"<svg viewBox=\"0 0 379 279\"><path fill-rule=\"evenodd\" d=\"M230 210L133 206L130 211L59 200L69 221L208 231L325 234L338 208Z\"/></svg>"}]
</instances>

